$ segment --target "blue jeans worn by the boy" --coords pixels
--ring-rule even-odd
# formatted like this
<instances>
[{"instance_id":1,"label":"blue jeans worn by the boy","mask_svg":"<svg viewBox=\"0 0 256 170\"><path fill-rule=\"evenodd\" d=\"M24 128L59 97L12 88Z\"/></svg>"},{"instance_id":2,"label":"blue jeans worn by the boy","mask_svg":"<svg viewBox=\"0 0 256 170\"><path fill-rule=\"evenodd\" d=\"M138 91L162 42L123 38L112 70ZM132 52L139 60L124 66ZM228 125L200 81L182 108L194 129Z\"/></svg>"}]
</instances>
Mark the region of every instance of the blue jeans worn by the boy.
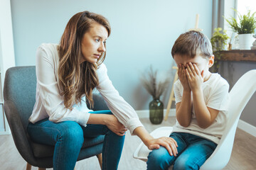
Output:
<instances>
[{"instance_id":1,"label":"blue jeans worn by the boy","mask_svg":"<svg viewBox=\"0 0 256 170\"><path fill-rule=\"evenodd\" d=\"M178 144L177 156L171 156L165 147L154 149L149 153L147 169L168 169L172 164L178 170L200 169L217 147L214 142L189 133L173 132L170 137Z\"/></svg>"}]
</instances>

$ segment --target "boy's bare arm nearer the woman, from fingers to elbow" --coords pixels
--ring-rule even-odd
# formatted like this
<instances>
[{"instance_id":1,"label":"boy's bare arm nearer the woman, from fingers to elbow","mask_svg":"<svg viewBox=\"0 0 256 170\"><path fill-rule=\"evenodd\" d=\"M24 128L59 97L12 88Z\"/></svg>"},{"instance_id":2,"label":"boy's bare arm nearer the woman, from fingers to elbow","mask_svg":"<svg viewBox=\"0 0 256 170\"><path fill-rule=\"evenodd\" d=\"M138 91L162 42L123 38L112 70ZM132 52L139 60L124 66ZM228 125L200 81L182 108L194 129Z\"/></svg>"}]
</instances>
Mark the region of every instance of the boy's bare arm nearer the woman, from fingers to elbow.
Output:
<instances>
[{"instance_id":1,"label":"boy's bare arm nearer the woman, from fingers to elbow","mask_svg":"<svg viewBox=\"0 0 256 170\"><path fill-rule=\"evenodd\" d=\"M178 65L178 79L183 86L183 96L180 103L176 103L176 119L183 127L188 127L191 123L191 89L188 85L184 65Z\"/></svg>"}]
</instances>

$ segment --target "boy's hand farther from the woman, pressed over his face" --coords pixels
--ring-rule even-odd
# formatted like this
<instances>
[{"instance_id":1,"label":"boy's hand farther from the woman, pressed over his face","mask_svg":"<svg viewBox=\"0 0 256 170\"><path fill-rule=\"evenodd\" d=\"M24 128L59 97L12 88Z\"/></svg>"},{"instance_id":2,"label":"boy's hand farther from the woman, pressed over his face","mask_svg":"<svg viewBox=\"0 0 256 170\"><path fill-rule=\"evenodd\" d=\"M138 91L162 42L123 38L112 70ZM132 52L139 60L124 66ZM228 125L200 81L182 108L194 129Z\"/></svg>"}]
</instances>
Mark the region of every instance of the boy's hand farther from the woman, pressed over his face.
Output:
<instances>
[{"instance_id":1,"label":"boy's hand farther from the woman, pressed over his face","mask_svg":"<svg viewBox=\"0 0 256 170\"><path fill-rule=\"evenodd\" d=\"M191 62L186 64L186 77L191 91L201 89L201 84L203 84L203 72L200 73L196 64L192 64Z\"/></svg>"}]
</instances>

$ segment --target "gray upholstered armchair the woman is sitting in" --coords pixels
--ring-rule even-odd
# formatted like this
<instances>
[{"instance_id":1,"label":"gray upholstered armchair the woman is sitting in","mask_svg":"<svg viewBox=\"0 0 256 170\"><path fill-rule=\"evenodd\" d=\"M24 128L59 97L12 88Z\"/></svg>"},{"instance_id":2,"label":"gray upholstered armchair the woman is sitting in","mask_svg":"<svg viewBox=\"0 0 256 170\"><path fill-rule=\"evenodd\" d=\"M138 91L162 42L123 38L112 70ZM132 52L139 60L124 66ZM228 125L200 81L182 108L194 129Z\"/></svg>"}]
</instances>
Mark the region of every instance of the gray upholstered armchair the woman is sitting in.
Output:
<instances>
[{"instance_id":1,"label":"gray upholstered armchair the woman is sitting in","mask_svg":"<svg viewBox=\"0 0 256 170\"><path fill-rule=\"evenodd\" d=\"M94 94L94 111L107 110L107 105L100 94ZM36 102L36 67L12 67L6 71L4 81L4 111L11 128L14 143L21 157L27 162L27 169L32 166L46 169L53 167L53 146L32 142L27 133L28 118ZM102 145L104 135L85 138L78 161L97 156L102 166Z\"/></svg>"}]
</instances>

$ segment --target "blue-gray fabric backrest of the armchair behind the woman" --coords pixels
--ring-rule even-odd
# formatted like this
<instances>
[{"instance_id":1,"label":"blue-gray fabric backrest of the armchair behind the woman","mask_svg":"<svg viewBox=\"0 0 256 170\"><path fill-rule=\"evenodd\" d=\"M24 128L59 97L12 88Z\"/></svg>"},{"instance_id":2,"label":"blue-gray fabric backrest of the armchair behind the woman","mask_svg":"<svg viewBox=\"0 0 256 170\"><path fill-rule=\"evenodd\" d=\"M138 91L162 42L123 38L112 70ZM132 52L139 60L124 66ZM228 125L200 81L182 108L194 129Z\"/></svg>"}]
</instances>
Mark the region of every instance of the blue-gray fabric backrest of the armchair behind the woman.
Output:
<instances>
[{"instance_id":1,"label":"blue-gray fabric backrest of the armchair behind the woman","mask_svg":"<svg viewBox=\"0 0 256 170\"><path fill-rule=\"evenodd\" d=\"M24 130L36 102L36 67L12 67L6 71L4 101L12 102L21 118ZM9 114L8 112L6 114ZM11 114L11 113L10 113Z\"/></svg>"}]
</instances>

